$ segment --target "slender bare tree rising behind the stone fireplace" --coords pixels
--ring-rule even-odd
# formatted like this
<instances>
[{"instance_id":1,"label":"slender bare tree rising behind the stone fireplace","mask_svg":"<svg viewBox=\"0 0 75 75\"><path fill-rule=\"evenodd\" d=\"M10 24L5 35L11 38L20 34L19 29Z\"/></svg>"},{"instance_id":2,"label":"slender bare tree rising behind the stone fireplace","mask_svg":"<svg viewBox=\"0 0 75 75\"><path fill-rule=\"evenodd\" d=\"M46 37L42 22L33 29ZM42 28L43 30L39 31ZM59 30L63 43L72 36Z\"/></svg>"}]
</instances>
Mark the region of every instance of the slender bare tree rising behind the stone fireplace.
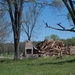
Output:
<instances>
[{"instance_id":1,"label":"slender bare tree rising behind the stone fireplace","mask_svg":"<svg viewBox=\"0 0 75 75\"><path fill-rule=\"evenodd\" d=\"M22 30L26 33L28 40L31 40L31 37L34 32L36 32L38 17L40 15L42 6L36 6L36 4L29 4L27 11L25 12L25 18L23 19Z\"/></svg>"}]
</instances>

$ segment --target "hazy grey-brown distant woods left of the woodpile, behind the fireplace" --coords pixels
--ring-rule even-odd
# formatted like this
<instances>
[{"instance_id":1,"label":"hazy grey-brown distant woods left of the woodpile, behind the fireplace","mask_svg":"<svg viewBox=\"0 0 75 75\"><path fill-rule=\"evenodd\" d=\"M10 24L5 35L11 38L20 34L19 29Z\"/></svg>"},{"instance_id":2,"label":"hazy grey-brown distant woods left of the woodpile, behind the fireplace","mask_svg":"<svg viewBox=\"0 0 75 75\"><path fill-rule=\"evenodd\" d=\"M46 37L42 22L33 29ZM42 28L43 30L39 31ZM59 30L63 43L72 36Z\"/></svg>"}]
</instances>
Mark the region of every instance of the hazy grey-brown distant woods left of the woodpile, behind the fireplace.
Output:
<instances>
[{"instance_id":1,"label":"hazy grey-brown distant woods left of the woodpile, behind the fireplace","mask_svg":"<svg viewBox=\"0 0 75 75\"><path fill-rule=\"evenodd\" d=\"M38 42L33 41L33 46L35 46ZM24 52L25 50L25 42L20 42L19 44L19 49L20 52ZM0 44L0 55L5 55L5 54L13 54L14 53L14 43L1 43Z\"/></svg>"}]
</instances>

